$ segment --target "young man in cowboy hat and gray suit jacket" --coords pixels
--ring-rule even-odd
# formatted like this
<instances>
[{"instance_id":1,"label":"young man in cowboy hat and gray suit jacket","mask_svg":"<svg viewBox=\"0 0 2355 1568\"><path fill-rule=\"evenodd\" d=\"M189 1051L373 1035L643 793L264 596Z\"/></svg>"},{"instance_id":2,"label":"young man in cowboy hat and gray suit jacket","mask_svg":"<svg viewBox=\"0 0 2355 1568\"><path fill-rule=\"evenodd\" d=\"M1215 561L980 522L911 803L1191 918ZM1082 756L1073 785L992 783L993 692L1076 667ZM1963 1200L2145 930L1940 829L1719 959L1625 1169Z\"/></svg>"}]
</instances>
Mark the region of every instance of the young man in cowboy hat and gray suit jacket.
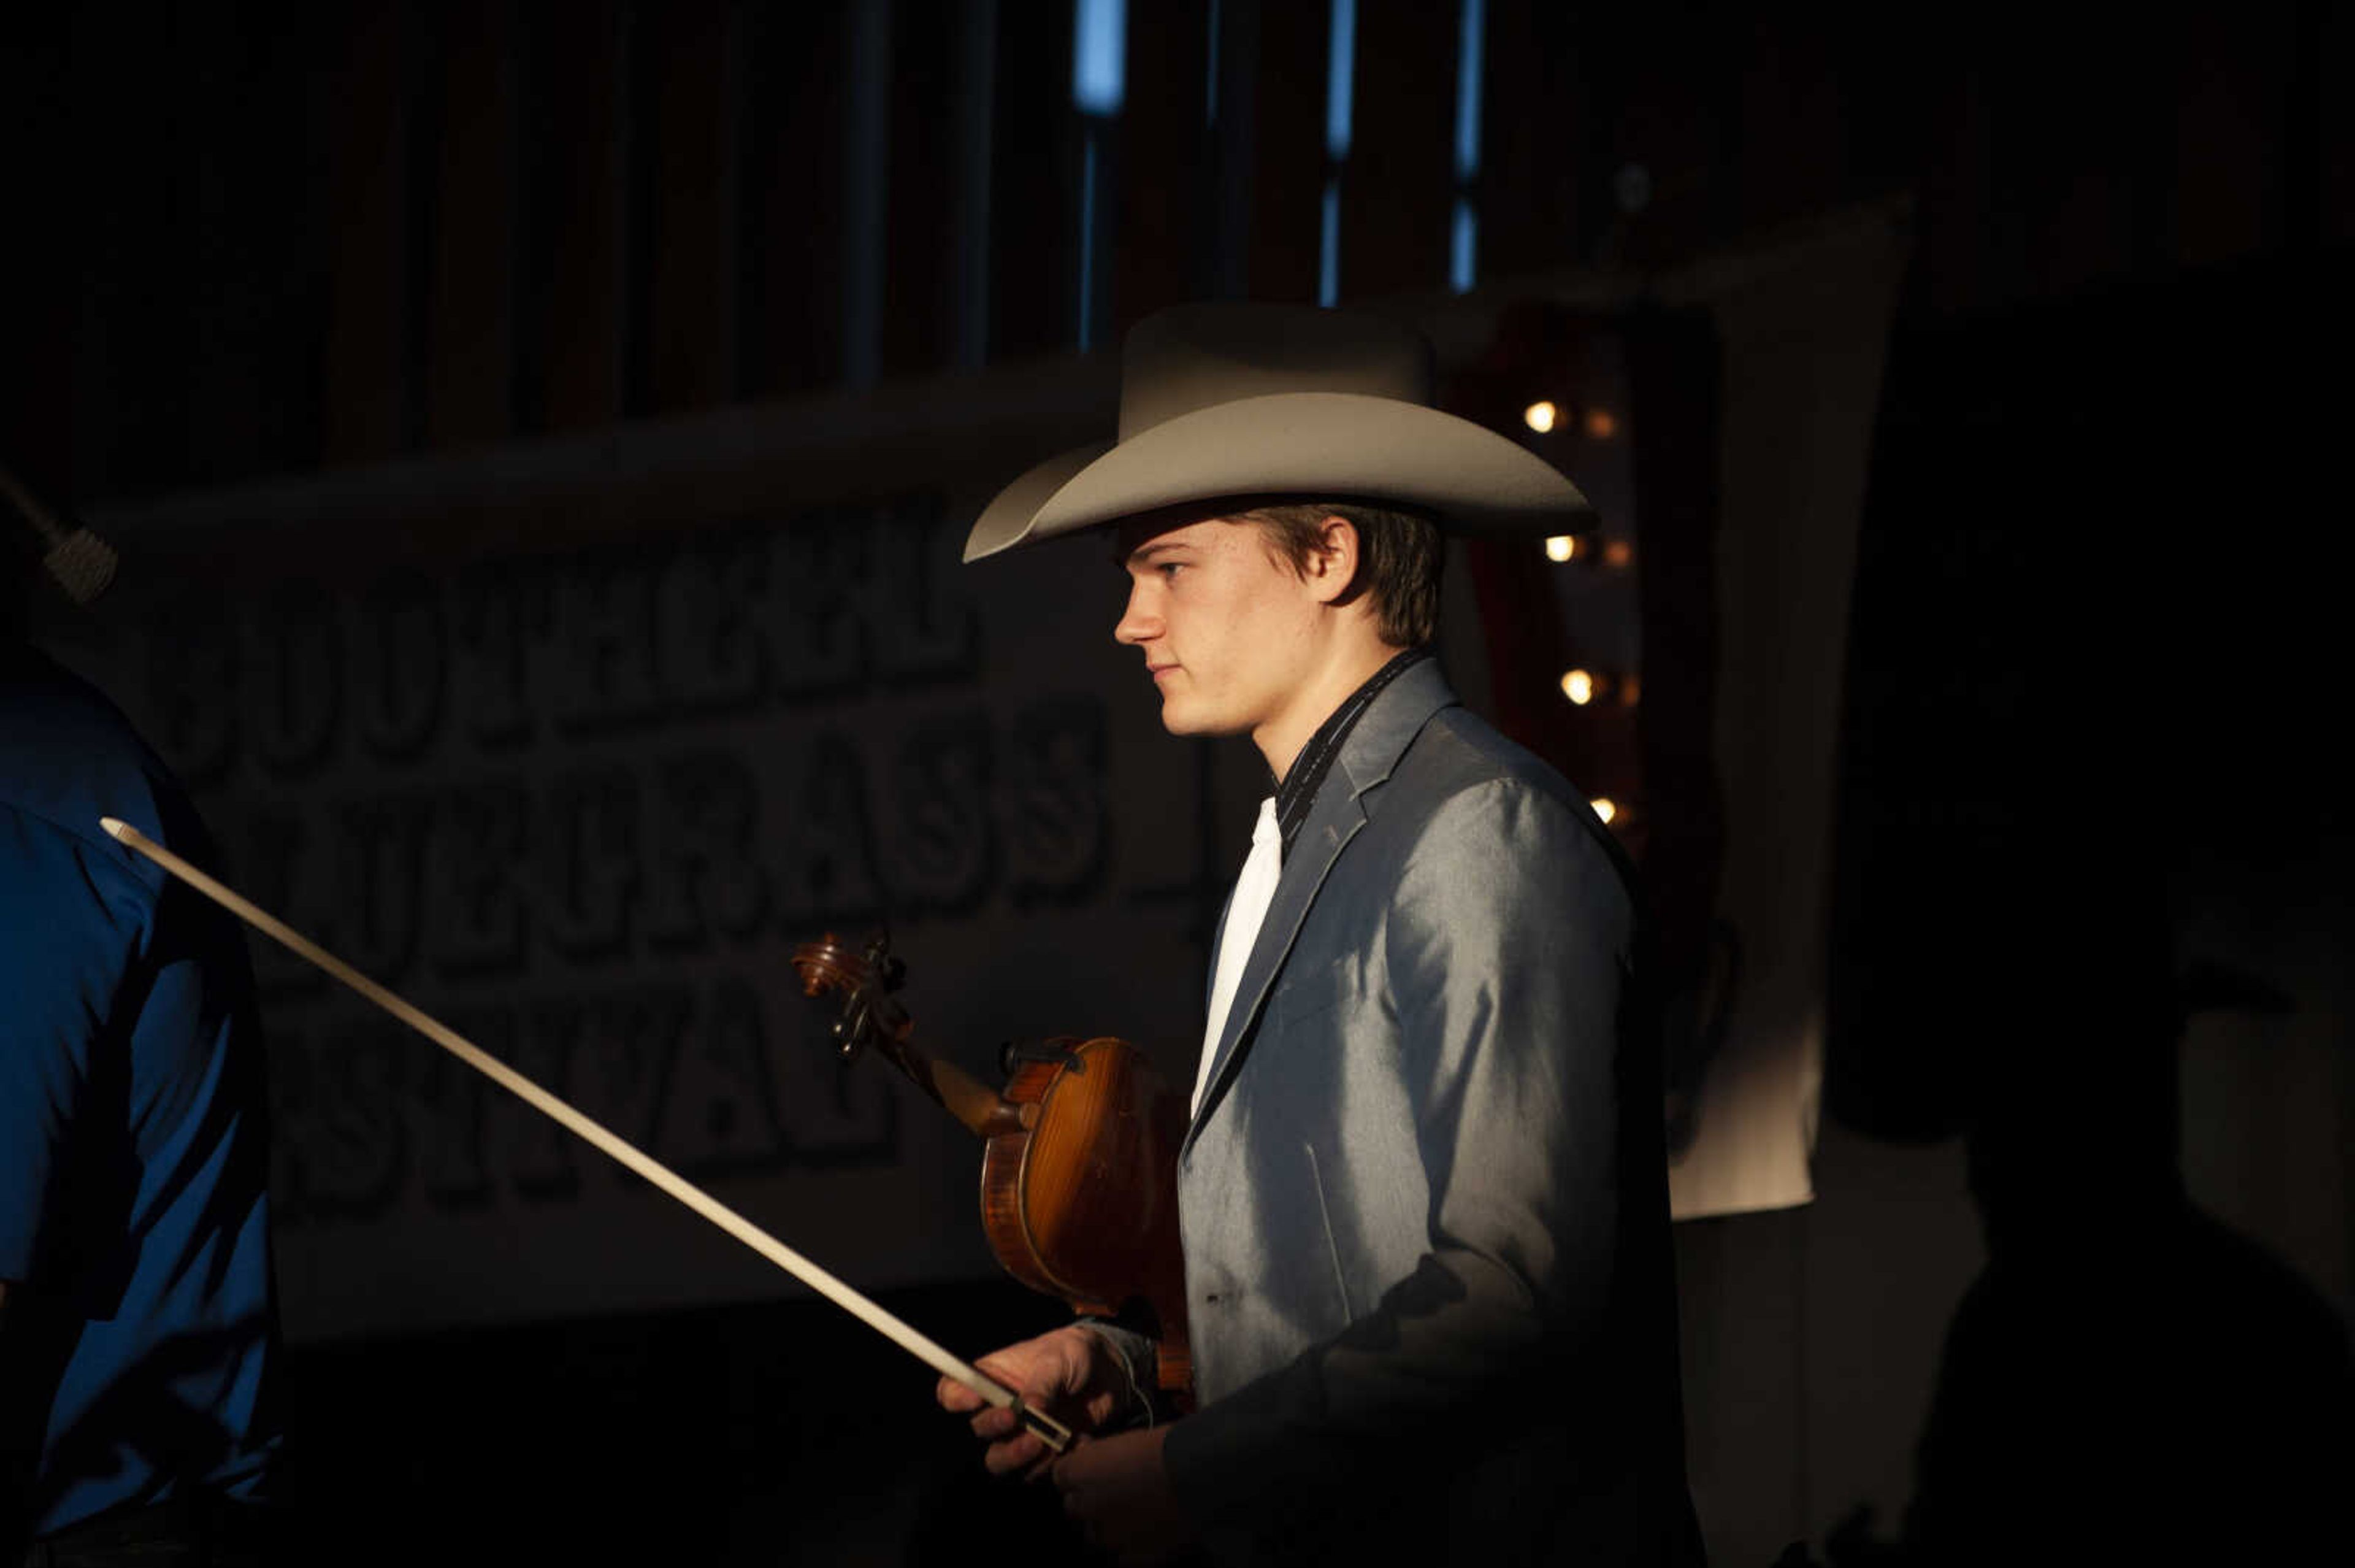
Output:
<instances>
[{"instance_id":1,"label":"young man in cowboy hat and gray suit jacket","mask_svg":"<svg viewBox=\"0 0 2355 1568\"><path fill-rule=\"evenodd\" d=\"M1411 332L1185 306L1126 344L1121 440L973 527L968 560L1114 530L1114 638L1166 727L1251 735L1276 782L1178 1170L1201 1408L1147 1424L1149 1344L1114 1326L982 1361L1093 1434L1043 1474L1121 1554L1698 1556L1627 869L1427 647L1429 518L1543 537L1585 511L1429 407ZM1041 1474L1006 1413L973 1424L991 1469Z\"/></svg>"}]
</instances>

